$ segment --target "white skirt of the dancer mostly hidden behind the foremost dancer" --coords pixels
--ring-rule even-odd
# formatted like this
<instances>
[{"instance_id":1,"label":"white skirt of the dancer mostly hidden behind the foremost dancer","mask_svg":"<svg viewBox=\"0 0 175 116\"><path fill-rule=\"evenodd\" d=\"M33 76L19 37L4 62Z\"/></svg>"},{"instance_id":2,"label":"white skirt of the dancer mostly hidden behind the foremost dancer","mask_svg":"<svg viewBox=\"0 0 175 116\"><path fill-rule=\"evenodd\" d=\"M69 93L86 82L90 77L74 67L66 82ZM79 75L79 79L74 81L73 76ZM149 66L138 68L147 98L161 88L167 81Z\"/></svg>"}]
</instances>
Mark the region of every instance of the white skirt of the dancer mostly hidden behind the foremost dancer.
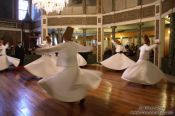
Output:
<instances>
[{"instance_id":1,"label":"white skirt of the dancer mostly hidden behind the foremost dancer","mask_svg":"<svg viewBox=\"0 0 175 116\"><path fill-rule=\"evenodd\" d=\"M87 64L86 60L79 54L77 54L77 59L79 66L85 66ZM39 59L25 65L24 68L37 77L47 78L54 75L55 72L57 72L58 67L56 65L56 62L56 56L43 55Z\"/></svg>"}]
</instances>

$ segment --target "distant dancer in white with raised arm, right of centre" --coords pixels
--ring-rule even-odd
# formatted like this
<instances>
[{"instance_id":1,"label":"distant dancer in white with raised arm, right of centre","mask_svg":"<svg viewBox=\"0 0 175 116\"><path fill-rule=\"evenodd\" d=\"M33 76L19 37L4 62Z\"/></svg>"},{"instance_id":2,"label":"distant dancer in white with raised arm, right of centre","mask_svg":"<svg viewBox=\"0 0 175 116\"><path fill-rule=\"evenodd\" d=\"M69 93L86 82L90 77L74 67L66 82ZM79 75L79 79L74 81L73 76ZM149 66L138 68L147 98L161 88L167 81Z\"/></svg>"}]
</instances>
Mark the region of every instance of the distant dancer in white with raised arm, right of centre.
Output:
<instances>
[{"instance_id":1,"label":"distant dancer in white with raised arm, right of centre","mask_svg":"<svg viewBox=\"0 0 175 116\"><path fill-rule=\"evenodd\" d=\"M123 54L123 52L125 52L125 48L118 40L112 40L112 43L116 48L116 54L101 62L104 67L113 70L123 70L128 68L130 65L135 64L133 60Z\"/></svg>"}]
</instances>

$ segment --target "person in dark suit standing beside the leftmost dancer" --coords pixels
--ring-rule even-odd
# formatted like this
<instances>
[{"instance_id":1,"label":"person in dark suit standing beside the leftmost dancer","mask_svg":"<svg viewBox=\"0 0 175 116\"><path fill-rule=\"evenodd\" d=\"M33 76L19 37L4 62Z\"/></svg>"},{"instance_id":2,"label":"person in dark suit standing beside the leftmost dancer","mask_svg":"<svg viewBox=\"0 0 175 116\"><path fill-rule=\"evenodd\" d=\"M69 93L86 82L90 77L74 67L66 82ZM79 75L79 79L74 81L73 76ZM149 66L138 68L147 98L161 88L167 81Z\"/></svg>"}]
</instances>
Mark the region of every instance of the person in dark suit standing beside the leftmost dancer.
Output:
<instances>
[{"instance_id":1,"label":"person in dark suit standing beside the leftmost dancer","mask_svg":"<svg viewBox=\"0 0 175 116\"><path fill-rule=\"evenodd\" d=\"M19 42L18 45L15 48L15 57L20 59L19 66L23 65L23 63L24 63L24 56L25 56L24 47L22 46L21 42Z\"/></svg>"}]
</instances>

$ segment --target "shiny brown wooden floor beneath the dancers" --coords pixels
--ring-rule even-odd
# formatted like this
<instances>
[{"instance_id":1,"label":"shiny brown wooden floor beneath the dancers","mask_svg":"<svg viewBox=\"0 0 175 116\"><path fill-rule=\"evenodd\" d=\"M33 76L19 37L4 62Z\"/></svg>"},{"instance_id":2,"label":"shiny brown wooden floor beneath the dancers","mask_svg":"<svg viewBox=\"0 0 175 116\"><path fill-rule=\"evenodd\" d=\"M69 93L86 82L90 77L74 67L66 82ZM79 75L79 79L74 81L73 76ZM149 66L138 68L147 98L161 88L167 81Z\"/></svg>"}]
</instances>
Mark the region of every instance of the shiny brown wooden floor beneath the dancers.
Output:
<instances>
[{"instance_id":1,"label":"shiny brown wooden floor beneath the dancers","mask_svg":"<svg viewBox=\"0 0 175 116\"><path fill-rule=\"evenodd\" d=\"M122 80L121 71L85 68L104 75L100 87L89 92L84 108L53 99L24 69L0 72L0 116L175 116L175 84L163 80L154 86L137 85Z\"/></svg>"}]
</instances>

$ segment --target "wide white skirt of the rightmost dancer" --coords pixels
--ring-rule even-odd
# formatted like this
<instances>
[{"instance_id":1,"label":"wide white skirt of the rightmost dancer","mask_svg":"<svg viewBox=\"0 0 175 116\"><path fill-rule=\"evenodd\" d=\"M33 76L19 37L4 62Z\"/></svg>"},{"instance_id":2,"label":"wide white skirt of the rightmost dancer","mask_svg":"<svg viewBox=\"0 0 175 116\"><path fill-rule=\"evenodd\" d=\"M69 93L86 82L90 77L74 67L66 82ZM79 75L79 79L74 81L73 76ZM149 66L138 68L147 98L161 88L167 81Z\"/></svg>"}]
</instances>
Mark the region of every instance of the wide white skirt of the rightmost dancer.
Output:
<instances>
[{"instance_id":1,"label":"wide white skirt of the rightmost dancer","mask_svg":"<svg viewBox=\"0 0 175 116\"><path fill-rule=\"evenodd\" d=\"M127 68L121 78L134 83L153 85L164 77L164 73L157 66L149 61L139 60L136 64Z\"/></svg>"}]
</instances>

